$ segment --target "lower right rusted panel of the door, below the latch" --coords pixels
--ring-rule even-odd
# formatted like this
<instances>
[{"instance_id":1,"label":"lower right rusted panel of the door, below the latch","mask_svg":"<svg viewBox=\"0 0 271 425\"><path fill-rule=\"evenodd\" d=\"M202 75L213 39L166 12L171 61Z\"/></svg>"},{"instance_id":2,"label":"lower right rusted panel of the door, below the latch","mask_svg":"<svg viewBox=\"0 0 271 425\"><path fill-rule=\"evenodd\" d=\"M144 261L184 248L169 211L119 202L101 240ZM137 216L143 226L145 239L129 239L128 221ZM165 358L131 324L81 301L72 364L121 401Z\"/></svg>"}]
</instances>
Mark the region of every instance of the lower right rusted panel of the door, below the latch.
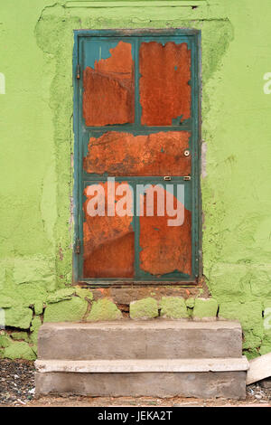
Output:
<instances>
[{"instance_id":1,"label":"lower right rusted panel of the door, below the latch","mask_svg":"<svg viewBox=\"0 0 271 425\"><path fill-rule=\"evenodd\" d=\"M177 194L178 185L183 189L181 196ZM143 215L139 218L139 264L141 276L145 279L151 276L180 279L183 274L187 277L192 274L192 204L189 186L189 182L175 180L169 186L173 190L168 192L166 184L156 181L150 184L145 194L140 195ZM155 201L161 196L161 201L163 198L166 200L164 212L157 211L159 203L154 202L154 214L148 216L145 199L150 191ZM177 207L182 212L178 216L174 213ZM159 215L161 213L162 216Z\"/></svg>"}]
</instances>

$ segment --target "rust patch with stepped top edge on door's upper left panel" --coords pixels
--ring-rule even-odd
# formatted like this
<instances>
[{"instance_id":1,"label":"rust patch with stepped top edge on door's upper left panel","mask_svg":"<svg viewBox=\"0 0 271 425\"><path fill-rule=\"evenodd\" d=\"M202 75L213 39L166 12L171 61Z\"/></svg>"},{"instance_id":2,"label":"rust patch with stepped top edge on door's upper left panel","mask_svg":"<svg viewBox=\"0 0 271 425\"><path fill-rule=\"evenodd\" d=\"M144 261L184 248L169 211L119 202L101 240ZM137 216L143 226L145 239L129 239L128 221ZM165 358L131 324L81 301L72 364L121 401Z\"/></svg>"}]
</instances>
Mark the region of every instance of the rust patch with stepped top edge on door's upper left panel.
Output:
<instances>
[{"instance_id":1,"label":"rust patch with stepped top edge on door's upper left panel","mask_svg":"<svg viewBox=\"0 0 271 425\"><path fill-rule=\"evenodd\" d=\"M132 45L118 42L111 57L84 71L83 116L86 126L133 123L135 83Z\"/></svg>"}]
</instances>

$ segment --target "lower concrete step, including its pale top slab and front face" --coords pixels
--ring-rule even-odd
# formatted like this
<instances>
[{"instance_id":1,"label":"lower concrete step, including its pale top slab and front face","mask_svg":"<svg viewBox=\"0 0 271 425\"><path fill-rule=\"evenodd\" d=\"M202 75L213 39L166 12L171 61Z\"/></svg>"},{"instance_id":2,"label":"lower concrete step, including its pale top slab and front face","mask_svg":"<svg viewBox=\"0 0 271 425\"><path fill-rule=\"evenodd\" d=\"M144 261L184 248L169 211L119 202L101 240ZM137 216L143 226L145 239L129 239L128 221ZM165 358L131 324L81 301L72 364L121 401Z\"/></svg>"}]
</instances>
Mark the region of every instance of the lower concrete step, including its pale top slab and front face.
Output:
<instances>
[{"instance_id":1,"label":"lower concrete step, including its pale top slab and front face","mask_svg":"<svg viewBox=\"0 0 271 425\"><path fill-rule=\"evenodd\" d=\"M38 360L36 395L246 397L248 360Z\"/></svg>"}]
</instances>

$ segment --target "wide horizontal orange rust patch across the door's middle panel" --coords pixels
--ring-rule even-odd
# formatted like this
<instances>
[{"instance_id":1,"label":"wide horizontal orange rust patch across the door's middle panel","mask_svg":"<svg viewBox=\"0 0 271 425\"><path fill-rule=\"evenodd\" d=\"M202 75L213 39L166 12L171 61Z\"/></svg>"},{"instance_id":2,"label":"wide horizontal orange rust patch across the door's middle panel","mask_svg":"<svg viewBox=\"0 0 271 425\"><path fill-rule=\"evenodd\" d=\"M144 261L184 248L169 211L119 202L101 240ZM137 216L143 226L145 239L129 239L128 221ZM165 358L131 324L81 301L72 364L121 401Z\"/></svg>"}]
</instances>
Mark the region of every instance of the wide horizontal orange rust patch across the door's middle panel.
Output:
<instances>
[{"instance_id":1,"label":"wide horizontal orange rust patch across the door's middle panel","mask_svg":"<svg viewBox=\"0 0 271 425\"><path fill-rule=\"evenodd\" d=\"M144 136L108 131L90 137L84 169L98 175L190 175L191 156L183 155L190 136L188 131Z\"/></svg>"}]
</instances>

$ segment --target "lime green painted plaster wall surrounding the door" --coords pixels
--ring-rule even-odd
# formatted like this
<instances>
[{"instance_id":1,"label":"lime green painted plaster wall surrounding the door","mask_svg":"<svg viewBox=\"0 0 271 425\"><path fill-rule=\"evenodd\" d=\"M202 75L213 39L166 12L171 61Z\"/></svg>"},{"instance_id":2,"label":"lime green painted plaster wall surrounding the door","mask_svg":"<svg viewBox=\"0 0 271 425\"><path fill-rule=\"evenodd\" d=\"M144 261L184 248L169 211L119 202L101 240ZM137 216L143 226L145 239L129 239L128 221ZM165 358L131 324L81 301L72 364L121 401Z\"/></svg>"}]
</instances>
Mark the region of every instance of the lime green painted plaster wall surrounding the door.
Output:
<instances>
[{"instance_id":1,"label":"lime green painted plaster wall surrounding the door","mask_svg":"<svg viewBox=\"0 0 271 425\"><path fill-rule=\"evenodd\" d=\"M72 30L144 27L201 29L203 272L220 316L241 321L245 353L271 351L270 1L9 0L0 4L2 356L34 358L46 316L91 317L91 297L66 288ZM95 308L105 317L105 305ZM110 303L108 312L119 316Z\"/></svg>"}]
</instances>

